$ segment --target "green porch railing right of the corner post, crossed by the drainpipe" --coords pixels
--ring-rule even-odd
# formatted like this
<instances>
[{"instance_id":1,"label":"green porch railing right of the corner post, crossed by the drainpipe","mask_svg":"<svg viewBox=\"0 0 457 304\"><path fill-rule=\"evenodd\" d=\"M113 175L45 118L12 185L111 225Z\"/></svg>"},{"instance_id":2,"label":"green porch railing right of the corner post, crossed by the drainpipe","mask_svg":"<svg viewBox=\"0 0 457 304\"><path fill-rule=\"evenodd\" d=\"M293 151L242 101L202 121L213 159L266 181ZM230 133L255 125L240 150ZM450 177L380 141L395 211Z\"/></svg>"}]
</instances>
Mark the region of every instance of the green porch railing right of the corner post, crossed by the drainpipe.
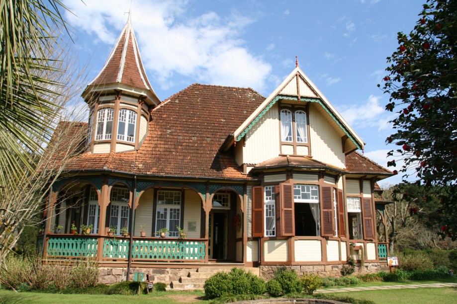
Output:
<instances>
[{"instance_id":1,"label":"green porch railing right of the corner post, crossed by the drainpipe","mask_svg":"<svg viewBox=\"0 0 457 304\"><path fill-rule=\"evenodd\" d=\"M105 239L103 257L128 258L128 240ZM136 260L203 260L205 242L190 240L134 240L132 258Z\"/></svg>"}]
</instances>

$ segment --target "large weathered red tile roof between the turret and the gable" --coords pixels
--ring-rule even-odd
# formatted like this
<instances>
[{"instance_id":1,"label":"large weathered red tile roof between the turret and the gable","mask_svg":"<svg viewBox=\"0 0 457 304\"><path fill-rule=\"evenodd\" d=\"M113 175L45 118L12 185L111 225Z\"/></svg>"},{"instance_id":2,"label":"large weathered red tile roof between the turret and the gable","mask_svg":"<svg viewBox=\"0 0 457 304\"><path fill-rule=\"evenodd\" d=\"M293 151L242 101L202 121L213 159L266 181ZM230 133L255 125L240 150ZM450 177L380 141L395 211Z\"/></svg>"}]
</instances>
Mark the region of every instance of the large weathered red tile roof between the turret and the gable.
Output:
<instances>
[{"instance_id":1,"label":"large weathered red tile roof between the turret and the gable","mask_svg":"<svg viewBox=\"0 0 457 304\"><path fill-rule=\"evenodd\" d=\"M149 133L138 151L84 153L68 169L249 178L236 165L232 152L219 148L264 100L251 88L192 84L151 112Z\"/></svg>"}]
</instances>

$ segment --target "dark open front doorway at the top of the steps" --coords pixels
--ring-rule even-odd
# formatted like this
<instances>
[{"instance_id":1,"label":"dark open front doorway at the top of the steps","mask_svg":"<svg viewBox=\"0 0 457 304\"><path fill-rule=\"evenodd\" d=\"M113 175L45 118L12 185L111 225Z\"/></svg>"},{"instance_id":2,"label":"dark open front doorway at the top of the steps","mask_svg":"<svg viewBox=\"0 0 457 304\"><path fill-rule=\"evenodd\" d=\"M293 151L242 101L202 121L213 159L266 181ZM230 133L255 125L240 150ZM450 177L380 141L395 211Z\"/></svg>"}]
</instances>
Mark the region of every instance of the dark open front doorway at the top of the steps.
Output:
<instances>
[{"instance_id":1,"label":"dark open front doorway at the top of the steps","mask_svg":"<svg viewBox=\"0 0 457 304\"><path fill-rule=\"evenodd\" d=\"M209 257L215 260L227 259L227 213L211 213L211 250Z\"/></svg>"}]
</instances>

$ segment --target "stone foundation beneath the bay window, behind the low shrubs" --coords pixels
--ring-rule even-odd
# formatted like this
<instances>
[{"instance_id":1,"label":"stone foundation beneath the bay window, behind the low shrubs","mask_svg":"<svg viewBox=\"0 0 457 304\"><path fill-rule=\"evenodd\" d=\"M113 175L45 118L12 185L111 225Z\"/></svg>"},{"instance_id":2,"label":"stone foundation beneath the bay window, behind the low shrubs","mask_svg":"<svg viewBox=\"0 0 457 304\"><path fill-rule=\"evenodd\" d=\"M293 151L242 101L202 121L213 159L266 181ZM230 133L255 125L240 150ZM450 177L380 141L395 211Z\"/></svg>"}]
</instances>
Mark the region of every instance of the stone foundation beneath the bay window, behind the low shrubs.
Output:
<instances>
[{"instance_id":1,"label":"stone foundation beneath the bay window, behind the low shrubs","mask_svg":"<svg viewBox=\"0 0 457 304\"><path fill-rule=\"evenodd\" d=\"M261 265L260 267L260 276L265 280L270 280L274 277L274 271L279 267L285 267L286 269L294 270L298 276L307 273L314 273L323 278L338 278L341 277L341 268L343 265L301 265L301 266L266 266ZM388 269L388 267L387 267ZM366 274L366 273L375 273L382 270L386 270L385 265L380 265L379 263L365 263L364 266L358 264L356 266L356 271L354 274Z\"/></svg>"}]
</instances>

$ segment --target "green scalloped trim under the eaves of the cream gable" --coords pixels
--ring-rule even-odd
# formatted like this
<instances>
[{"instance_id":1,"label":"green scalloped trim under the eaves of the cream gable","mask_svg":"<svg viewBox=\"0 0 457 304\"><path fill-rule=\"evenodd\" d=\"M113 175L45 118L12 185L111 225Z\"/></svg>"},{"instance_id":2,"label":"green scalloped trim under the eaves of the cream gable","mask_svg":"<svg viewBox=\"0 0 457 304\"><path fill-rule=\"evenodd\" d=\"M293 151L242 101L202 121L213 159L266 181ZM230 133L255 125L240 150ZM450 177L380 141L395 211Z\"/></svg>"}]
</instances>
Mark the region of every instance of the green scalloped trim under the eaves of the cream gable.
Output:
<instances>
[{"instance_id":1,"label":"green scalloped trim under the eaves of the cream gable","mask_svg":"<svg viewBox=\"0 0 457 304\"><path fill-rule=\"evenodd\" d=\"M272 99L272 101L270 101L270 103L262 110L262 112L259 113L259 115L257 115L257 117L243 130L243 132L241 132L240 135L238 135L238 137L236 138L236 142L239 142L248 132L249 130L251 130L254 125L262 119L262 117L268 112L268 110L270 110L274 104L279 100L279 99L285 99L285 100L294 100L294 101L298 101L298 97L295 97L295 96L284 96L284 95L277 95L276 97L274 97ZM341 124L341 122L337 119L337 117L333 114L332 111L330 111L330 109L328 108L327 105L324 104L324 102L322 101L322 99L320 98L312 98L312 97L300 97L300 101L306 101L306 102L317 102L319 103L323 108L324 110L330 115L330 117L332 117L332 119L335 121L335 123L343 130L343 132L348 136L349 139L351 139L351 141L354 143L354 145L356 145L356 147L358 149L362 149L362 146L356 141L356 139L354 138L354 136L352 136L352 134L349 132L349 130L346 129L345 126L343 126Z\"/></svg>"}]
</instances>

